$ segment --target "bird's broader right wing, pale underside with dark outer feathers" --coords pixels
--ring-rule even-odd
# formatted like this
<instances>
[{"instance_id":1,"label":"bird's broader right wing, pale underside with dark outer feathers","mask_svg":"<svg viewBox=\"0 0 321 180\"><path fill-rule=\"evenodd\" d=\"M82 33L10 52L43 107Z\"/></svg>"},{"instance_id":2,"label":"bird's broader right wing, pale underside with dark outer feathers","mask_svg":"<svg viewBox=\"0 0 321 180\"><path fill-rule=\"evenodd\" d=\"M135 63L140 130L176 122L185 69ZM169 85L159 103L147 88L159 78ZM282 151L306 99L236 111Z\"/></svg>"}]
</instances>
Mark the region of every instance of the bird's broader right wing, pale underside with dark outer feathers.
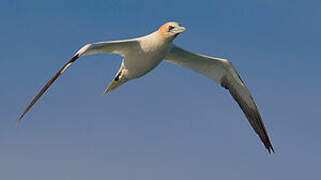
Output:
<instances>
[{"instance_id":1,"label":"bird's broader right wing, pale underside with dark outer feathers","mask_svg":"<svg viewBox=\"0 0 321 180\"><path fill-rule=\"evenodd\" d=\"M201 73L228 89L266 149L274 152L256 104L232 64L226 59L194 54L175 45L165 60Z\"/></svg>"}]
</instances>

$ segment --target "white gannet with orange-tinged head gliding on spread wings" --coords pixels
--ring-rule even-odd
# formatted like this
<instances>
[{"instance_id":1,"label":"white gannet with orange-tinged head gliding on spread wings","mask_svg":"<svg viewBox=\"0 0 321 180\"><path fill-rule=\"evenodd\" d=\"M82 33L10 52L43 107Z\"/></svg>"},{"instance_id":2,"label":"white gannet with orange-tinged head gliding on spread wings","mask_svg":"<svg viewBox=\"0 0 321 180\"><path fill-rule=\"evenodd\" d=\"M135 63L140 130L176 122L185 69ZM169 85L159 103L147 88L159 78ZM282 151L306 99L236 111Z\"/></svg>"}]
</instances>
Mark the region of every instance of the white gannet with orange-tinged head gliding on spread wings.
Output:
<instances>
[{"instance_id":1,"label":"white gannet with orange-tinged head gliding on spread wings","mask_svg":"<svg viewBox=\"0 0 321 180\"><path fill-rule=\"evenodd\" d=\"M29 103L17 122L29 111L50 85L72 65L80 56L113 53L123 56L116 76L104 94L123 85L129 80L139 78L153 70L163 60L184 66L221 84L228 89L241 107L254 131L258 134L269 153L273 146L265 130L258 108L244 82L232 64L221 58L204 56L184 50L173 44L173 40L186 29L176 22L168 22L157 31L146 36L87 44L83 46L62 68L43 86Z\"/></svg>"}]
</instances>

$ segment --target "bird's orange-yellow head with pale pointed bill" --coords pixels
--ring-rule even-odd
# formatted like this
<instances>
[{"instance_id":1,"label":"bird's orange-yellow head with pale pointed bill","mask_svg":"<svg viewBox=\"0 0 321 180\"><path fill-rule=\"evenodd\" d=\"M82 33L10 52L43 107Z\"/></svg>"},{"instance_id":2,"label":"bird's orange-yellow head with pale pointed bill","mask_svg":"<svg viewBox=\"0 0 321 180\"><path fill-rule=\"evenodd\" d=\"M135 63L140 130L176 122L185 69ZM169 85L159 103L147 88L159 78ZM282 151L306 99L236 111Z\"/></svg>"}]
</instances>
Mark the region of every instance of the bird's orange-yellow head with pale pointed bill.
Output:
<instances>
[{"instance_id":1,"label":"bird's orange-yellow head with pale pointed bill","mask_svg":"<svg viewBox=\"0 0 321 180\"><path fill-rule=\"evenodd\" d=\"M174 38L185 30L186 29L177 22L168 22L163 24L157 32L164 38Z\"/></svg>"}]
</instances>

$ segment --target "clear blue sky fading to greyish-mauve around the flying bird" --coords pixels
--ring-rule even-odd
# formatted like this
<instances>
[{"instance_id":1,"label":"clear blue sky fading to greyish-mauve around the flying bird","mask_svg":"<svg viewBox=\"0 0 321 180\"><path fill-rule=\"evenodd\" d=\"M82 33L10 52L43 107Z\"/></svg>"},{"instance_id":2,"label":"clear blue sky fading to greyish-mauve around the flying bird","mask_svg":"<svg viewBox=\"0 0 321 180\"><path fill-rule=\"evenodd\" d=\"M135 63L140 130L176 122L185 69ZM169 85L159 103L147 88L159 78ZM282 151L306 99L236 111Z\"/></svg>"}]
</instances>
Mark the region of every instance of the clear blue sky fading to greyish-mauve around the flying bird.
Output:
<instances>
[{"instance_id":1,"label":"clear blue sky fading to greyish-mauve around the flying bird","mask_svg":"<svg viewBox=\"0 0 321 180\"><path fill-rule=\"evenodd\" d=\"M319 179L320 1L1 1L0 179ZM102 96L117 55L82 57L25 116L86 43L137 37L167 21L175 43L228 58L252 92L269 155L229 93L162 63Z\"/></svg>"}]
</instances>

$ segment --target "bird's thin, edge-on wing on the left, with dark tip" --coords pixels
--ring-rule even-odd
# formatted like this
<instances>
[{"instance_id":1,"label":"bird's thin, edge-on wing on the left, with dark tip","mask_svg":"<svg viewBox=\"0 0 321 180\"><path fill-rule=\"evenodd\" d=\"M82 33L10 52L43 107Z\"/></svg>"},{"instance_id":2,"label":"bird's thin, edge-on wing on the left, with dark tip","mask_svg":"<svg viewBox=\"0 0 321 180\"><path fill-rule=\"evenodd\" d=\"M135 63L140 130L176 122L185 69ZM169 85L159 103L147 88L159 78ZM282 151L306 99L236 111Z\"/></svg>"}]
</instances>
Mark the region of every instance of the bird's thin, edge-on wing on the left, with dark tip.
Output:
<instances>
[{"instance_id":1,"label":"bird's thin, edge-on wing on the left, with dark tip","mask_svg":"<svg viewBox=\"0 0 321 180\"><path fill-rule=\"evenodd\" d=\"M135 39L132 40L122 40L122 41L107 41L98 42L93 44L87 44L83 46L65 65L60 68L60 70L47 82L45 86L39 91L39 93L33 98L29 103L27 108L24 110L22 115L17 120L17 123L23 118L23 116L29 111L29 109L38 101L38 99L46 92L50 85L55 82L55 80L66 70L72 63L74 63L82 55L98 54L98 53L114 53L125 56L127 52L137 45Z\"/></svg>"}]
</instances>

